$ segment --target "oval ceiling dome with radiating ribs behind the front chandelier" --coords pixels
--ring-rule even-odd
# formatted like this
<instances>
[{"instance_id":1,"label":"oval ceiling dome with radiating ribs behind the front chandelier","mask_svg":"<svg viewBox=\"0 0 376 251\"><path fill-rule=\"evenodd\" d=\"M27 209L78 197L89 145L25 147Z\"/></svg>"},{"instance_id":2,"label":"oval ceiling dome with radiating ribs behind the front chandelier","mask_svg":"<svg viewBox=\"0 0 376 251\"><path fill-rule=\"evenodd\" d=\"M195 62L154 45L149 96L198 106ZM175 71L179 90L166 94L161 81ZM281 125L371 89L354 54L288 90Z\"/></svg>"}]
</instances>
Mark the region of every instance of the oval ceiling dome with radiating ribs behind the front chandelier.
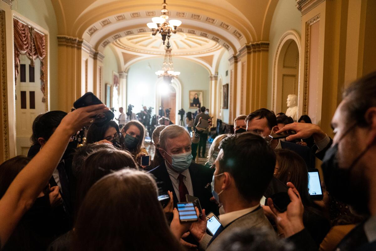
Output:
<instances>
[{"instance_id":1,"label":"oval ceiling dome with radiating ribs behind the front chandelier","mask_svg":"<svg viewBox=\"0 0 376 251\"><path fill-rule=\"evenodd\" d=\"M171 54L173 55L196 55L221 49L220 44L209 38L182 32L173 34L170 38L170 44ZM138 53L153 55L164 55L165 53L165 45L162 43L161 35L153 36L150 32L119 38L114 41L114 46Z\"/></svg>"}]
</instances>

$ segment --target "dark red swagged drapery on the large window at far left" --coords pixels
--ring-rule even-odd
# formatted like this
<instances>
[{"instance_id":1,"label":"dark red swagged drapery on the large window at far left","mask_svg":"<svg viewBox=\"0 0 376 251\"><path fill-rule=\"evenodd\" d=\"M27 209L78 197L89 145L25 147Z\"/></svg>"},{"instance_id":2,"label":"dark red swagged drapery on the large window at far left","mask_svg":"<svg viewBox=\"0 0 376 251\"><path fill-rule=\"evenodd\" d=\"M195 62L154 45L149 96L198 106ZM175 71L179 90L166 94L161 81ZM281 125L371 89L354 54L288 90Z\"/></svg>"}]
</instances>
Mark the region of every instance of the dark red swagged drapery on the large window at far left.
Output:
<instances>
[{"instance_id":1,"label":"dark red swagged drapery on the large window at far left","mask_svg":"<svg viewBox=\"0 0 376 251\"><path fill-rule=\"evenodd\" d=\"M22 23L17 19L13 19L14 27L14 70L15 70L15 84L20 68L20 55L26 55L30 59L31 65L34 65L34 60L39 58L41 60L41 91L43 93L42 102L45 102L45 65L44 58L46 55L46 37L45 35L35 31L33 27Z\"/></svg>"}]
</instances>

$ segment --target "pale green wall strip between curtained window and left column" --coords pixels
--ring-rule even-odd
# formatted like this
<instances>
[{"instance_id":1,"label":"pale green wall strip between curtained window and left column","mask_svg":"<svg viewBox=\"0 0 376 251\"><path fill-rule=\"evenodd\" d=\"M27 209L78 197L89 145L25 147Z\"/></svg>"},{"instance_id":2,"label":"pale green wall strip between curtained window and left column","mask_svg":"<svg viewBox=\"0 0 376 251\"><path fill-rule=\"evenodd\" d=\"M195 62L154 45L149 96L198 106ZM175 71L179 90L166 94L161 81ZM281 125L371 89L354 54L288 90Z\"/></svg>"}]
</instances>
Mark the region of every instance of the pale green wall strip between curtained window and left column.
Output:
<instances>
[{"instance_id":1,"label":"pale green wall strip between curtained window and left column","mask_svg":"<svg viewBox=\"0 0 376 251\"><path fill-rule=\"evenodd\" d=\"M51 0L15 0L12 9L49 32L50 110L58 110L58 24Z\"/></svg>"}]
</instances>

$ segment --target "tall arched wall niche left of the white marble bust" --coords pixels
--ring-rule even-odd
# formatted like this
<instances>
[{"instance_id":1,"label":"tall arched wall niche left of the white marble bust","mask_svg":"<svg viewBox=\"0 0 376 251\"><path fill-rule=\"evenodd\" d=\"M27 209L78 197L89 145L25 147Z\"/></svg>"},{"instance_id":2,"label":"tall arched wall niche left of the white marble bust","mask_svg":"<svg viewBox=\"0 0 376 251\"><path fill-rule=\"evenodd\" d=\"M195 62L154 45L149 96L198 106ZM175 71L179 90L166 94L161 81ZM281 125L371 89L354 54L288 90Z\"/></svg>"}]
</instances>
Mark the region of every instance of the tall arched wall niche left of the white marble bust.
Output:
<instances>
[{"instance_id":1,"label":"tall arched wall niche left of the white marble bust","mask_svg":"<svg viewBox=\"0 0 376 251\"><path fill-rule=\"evenodd\" d=\"M274 55L272 107L275 113L286 112L289 94L295 94L300 98L299 75L300 38L296 32L288 31L280 39Z\"/></svg>"}]
</instances>

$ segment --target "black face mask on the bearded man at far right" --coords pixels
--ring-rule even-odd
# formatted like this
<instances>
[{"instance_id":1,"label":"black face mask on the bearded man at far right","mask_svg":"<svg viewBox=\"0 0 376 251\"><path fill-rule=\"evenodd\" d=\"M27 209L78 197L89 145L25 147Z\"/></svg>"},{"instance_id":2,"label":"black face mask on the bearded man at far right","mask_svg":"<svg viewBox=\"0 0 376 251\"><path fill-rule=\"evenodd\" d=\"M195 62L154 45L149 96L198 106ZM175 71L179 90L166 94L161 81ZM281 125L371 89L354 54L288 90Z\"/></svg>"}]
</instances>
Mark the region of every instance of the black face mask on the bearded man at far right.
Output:
<instances>
[{"instance_id":1,"label":"black face mask on the bearded man at far right","mask_svg":"<svg viewBox=\"0 0 376 251\"><path fill-rule=\"evenodd\" d=\"M345 132L342 138L353 127ZM363 173L354 174L351 172L369 148L370 146L367 146L348 168L343 168L338 164L338 143L336 143L327 150L321 164L328 192L338 201L351 205L358 213L369 213L369 185Z\"/></svg>"}]
</instances>

